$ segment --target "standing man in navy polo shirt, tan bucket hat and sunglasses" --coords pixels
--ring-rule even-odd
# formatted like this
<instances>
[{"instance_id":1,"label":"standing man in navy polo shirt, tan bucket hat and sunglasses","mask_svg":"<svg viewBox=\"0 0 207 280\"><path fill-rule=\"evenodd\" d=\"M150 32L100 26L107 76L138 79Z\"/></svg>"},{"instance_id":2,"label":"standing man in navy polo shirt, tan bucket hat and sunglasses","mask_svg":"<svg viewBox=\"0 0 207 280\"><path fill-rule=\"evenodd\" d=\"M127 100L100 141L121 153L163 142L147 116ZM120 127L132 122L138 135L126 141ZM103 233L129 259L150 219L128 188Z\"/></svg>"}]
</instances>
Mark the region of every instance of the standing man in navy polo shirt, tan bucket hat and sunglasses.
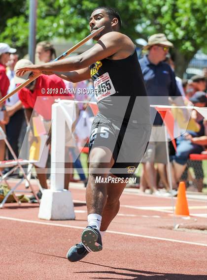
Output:
<instances>
[{"instance_id":1,"label":"standing man in navy polo shirt, tan bucket hat and sunglasses","mask_svg":"<svg viewBox=\"0 0 207 280\"><path fill-rule=\"evenodd\" d=\"M165 34L158 33L149 37L144 50L148 51L140 61L149 102L153 105L169 105L169 97L173 98L177 105L181 105L182 98L176 86L174 72L165 61L169 47L173 44L168 41ZM179 97L179 98L175 98ZM156 171L154 163L158 163L161 179L169 190L165 164L167 163L165 130L163 121L154 108L150 111L151 123L153 124L150 143L142 159L143 170L141 176L141 187L149 185L155 194L159 194L156 183Z\"/></svg>"}]
</instances>

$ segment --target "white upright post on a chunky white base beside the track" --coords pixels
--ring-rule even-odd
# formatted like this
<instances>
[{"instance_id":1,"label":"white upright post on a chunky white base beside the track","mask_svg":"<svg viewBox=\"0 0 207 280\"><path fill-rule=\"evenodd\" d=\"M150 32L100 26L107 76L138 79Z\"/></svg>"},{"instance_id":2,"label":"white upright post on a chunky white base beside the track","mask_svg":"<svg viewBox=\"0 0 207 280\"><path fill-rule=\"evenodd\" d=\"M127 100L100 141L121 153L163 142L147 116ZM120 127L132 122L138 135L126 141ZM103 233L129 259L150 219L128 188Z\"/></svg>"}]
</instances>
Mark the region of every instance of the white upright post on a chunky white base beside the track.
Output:
<instances>
[{"instance_id":1,"label":"white upright post on a chunky white base beside the track","mask_svg":"<svg viewBox=\"0 0 207 280\"><path fill-rule=\"evenodd\" d=\"M71 192L64 189L66 125L71 133L75 102L58 100L52 105L51 187L42 193L38 218L75 219ZM58 171L62 172L58 172Z\"/></svg>"}]
</instances>

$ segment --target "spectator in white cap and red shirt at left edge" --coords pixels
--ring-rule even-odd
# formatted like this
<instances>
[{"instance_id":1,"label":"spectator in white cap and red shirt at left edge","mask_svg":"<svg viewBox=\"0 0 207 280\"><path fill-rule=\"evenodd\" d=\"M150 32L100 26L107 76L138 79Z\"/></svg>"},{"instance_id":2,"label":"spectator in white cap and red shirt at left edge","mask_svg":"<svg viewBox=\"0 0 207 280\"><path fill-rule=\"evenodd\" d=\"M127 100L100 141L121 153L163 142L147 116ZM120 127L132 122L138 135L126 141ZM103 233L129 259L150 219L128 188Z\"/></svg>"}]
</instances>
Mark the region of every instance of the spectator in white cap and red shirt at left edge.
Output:
<instances>
[{"instance_id":1,"label":"spectator in white cap and red shirt at left edge","mask_svg":"<svg viewBox=\"0 0 207 280\"><path fill-rule=\"evenodd\" d=\"M6 76L6 64L9 60L9 55L15 53L16 49L10 48L5 43L0 43L0 99L4 97L9 88L9 79ZM9 117L5 109L5 105L0 104L0 127L5 132L5 124L8 124ZM5 143L0 140L0 161L4 160Z\"/></svg>"}]
</instances>

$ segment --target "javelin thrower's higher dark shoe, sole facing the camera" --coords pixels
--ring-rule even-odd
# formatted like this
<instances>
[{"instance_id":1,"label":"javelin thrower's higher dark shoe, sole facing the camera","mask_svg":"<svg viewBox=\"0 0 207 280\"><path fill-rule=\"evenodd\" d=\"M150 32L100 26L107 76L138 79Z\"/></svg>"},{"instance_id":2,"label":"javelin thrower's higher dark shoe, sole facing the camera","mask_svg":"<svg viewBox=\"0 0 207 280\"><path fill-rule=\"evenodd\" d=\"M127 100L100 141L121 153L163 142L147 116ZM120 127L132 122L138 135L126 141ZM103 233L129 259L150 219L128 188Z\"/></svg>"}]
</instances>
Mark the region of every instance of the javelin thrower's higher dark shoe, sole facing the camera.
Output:
<instances>
[{"instance_id":1,"label":"javelin thrower's higher dark shoe, sole facing the camera","mask_svg":"<svg viewBox=\"0 0 207 280\"><path fill-rule=\"evenodd\" d=\"M98 252L103 249L102 237L95 225L87 226L82 232L82 243L93 252Z\"/></svg>"}]
</instances>

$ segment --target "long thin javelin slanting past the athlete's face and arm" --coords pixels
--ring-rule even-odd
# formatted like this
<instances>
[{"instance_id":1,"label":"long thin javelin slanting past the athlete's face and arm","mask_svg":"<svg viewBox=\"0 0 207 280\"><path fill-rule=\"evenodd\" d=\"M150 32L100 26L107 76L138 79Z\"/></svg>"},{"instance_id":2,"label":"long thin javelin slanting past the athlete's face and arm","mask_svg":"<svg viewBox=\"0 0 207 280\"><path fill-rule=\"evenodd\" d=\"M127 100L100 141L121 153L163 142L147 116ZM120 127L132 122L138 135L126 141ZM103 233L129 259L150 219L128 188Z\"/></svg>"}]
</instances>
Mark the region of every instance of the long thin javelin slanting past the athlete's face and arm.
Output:
<instances>
[{"instance_id":1,"label":"long thin javelin slanting past the athlete's face and arm","mask_svg":"<svg viewBox=\"0 0 207 280\"><path fill-rule=\"evenodd\" d=\"M100 27L99 29L97 29L96 31L93 31L91 34L89 34L87 37L85 37L83 40L81 40L80 42L78 42L76 45L74 45L73 47L71 47L68 51L66 51L65 53L63 53L62 55L60 55L59 57L57 57L53 62L58 61L58 60L62 60L63 58L67 57L69 54L71 54L72 52L74 52L77 48L79 48L80 46L82 46L83 44L85 44L88 40L92 39L95 35L99 34L99 32L104 30L104 26ZM0 99L0 104L3 103L6 99L8 99L9 97L11 97L14 93L18 92L19 90L21 90L22 88L26 87L27 85L29 85L32 81L34 81L36 78L38 78L42 73L38 73L35 75L32 75L29 79L27 79L24 83L22 83L21 85L19 85L16 89L14 89L11 93L8 93L7 95L5 95L3 98Z\"/></svg>"}]
</instances>

